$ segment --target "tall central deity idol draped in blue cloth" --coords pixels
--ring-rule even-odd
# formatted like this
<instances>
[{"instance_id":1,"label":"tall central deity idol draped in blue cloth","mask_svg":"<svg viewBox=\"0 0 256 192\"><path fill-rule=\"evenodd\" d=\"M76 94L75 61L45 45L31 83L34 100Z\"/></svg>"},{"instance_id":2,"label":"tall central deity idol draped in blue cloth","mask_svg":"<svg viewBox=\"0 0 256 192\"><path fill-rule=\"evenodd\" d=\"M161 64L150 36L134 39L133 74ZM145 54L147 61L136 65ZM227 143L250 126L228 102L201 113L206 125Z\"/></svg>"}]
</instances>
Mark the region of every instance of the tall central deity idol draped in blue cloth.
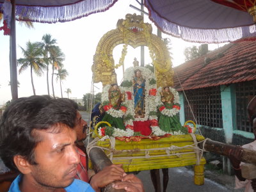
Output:
<instances>
[{"instance_id":1,"label":"tall central deity idol draped in blue cloth","mask_svg":"<svg viewBox=\"0 0 256 192\"><path fill-rule=\"evenodd\" d=\"M142 77L140 70L134 71L132 79L133 95L134 95L134 112L135 117L145 116L145 79Z\"/></svg>"}]
</instances>

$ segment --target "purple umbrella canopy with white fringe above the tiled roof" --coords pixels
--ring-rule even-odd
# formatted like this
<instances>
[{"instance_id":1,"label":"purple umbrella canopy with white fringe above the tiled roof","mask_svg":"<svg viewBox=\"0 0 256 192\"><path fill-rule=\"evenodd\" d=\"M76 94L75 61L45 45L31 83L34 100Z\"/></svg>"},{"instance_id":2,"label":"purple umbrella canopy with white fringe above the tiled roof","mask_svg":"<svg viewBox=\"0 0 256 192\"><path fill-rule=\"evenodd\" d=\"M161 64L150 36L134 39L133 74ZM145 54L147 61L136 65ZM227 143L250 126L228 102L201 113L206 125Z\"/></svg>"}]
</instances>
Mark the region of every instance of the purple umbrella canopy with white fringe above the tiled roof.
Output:
<instances>
[{"instance_id":1,"label":"purple umbrella canopy with white fringe above the tiled roof","mask_svg":"<svg viewBox=\"0 0 256 192\"><path fill-rule=\"evenodd\" d=\"M256 36L253 17L211 0L145 0L163 33L189 42L220 43Z\"/></svg>"}]
</instances>

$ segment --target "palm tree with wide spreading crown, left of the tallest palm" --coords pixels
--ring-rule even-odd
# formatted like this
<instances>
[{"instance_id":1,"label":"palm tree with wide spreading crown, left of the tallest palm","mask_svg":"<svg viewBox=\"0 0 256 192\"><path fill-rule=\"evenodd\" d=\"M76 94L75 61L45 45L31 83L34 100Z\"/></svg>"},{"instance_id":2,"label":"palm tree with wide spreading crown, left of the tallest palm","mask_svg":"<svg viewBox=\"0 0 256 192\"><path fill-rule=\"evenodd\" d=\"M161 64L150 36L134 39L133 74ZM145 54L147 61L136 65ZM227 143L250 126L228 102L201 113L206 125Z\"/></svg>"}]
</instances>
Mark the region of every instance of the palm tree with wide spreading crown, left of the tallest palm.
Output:
<instances>
[{"instance_id":1,"label":"palm tree with wide spreading crown, left of the tallest palm","mask_svg":"<svg viewBox=\"0 0 256 192\"><path fill-rule=\"evenodd\" d=\"M28 67L30 67L30 76L31 76L31 84L33 88L33 93L36 95L35 86L33 82L33 71L36 75L41 76L44 72L43 69L45 68L45 65L43 63L43 52L40 48L38 42L31 43L30 41L26 43L26 49L22 50L22 54L24 58L19 58L17 60L17 64L21 65L19 69L19 74L26 70Z\"/></svg>"}]
</instances>

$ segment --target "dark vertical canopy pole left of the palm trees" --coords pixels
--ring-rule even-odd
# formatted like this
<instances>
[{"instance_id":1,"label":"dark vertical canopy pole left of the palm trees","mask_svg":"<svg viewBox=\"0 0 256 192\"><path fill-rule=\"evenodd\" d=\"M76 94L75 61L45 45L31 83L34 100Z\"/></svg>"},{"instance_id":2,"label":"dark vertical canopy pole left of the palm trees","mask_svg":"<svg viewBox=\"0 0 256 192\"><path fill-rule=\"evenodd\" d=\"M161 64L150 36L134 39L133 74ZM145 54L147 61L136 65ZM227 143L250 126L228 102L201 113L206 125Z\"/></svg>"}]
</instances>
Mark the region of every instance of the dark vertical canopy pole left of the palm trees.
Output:
<instances>
[{"instance_id":1,"label":"dark vertical canopy pole left of the palm trees","mask_svg":"<svg viewBox=\"0 0 256 192\"><path fill-rule=\"evenodd\" d=\"M15 100L15 99L18 99L15 0L11 0L11 3L12 3L12 19L11 19L11 34L10 34L10 81L11 81L12 100Z\"/></svg>"}]
</instances>

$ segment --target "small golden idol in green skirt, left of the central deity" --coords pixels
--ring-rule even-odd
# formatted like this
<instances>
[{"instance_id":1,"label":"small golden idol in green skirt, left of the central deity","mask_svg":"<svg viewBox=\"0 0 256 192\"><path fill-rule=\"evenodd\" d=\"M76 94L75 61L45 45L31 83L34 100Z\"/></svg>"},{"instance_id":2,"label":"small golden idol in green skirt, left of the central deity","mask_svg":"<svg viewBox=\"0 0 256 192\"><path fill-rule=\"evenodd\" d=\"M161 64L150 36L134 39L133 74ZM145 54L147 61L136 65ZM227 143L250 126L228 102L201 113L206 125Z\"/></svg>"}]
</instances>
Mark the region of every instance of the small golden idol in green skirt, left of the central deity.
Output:
<instances>
[{"instance_id":1,"label":"small golden idol in green skirt, left of the central deity","mask_svg":"<svg viewBox=\"0 0 256 192\"><path fill-rule=\"evenodd\" d=\"M124 96L125 95L120 92L118 84L116 83L111 84L111 87L109 88L109 91L108 91L110 108L113 108L115 110L122 109L122 107L120 107L120 104L121 102L124 101ZM125 130L124 120L120 116L111 115L108 112L106 112L102 121L109 122L109 124L111 124L112 127Z\"/></svg>"}]
</instances>

